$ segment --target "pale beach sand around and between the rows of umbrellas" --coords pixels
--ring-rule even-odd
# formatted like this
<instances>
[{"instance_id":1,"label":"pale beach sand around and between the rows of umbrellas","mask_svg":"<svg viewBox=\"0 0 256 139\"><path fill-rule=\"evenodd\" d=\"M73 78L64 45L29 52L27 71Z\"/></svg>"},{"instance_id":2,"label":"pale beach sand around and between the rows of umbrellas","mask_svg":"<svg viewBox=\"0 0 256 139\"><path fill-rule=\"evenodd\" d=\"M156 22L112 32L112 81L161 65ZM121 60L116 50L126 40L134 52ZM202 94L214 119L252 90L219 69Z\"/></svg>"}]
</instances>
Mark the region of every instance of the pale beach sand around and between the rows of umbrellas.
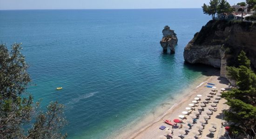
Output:
<instances>
[{"instance_id":1,"label":"pale beach sand around and between the rows of umbrellas","mask_svg":"<svg viewBox=\"0 0 256 139\"><path fill-rule=\"evenodd\" d=\"M165 130L159 129L160 126L169 127L170 128L169 130L172 129L172 126L165 124L163 122L163 120L168 119L168 120L172 120L172 122L173 122L173 119L179 119L178 115L182 115L182 111L186 111L185 107L189 107L188 104L192 103L191 101L194 100L196 95L198 95L198 94L202 95L201 98L203 100L203 98L207 94L209 94L209 92L212 88L206 88L204 86L204 85L206 85L207 82L215 83L216 84L215 86L218 88L219 91L220 91L220 88L228 88L228 81L225 78L221 78L219 76L209 76L203 82L205 82L205 83L202 84L200 87L190 90L190 93L187 93L187 95L184 96L182 100L180 100L168 112L163 114L162 117L158 117L157 119L152 120L152 122L150 124L143 126L143 128L141 128L141 130L137 130L136 128L135 129L131 128L129 131L126 131L126 132L118 135L117 138L119 138L119 139L158 139L159 136L167 134L165 132ZM209 134L209 127L211 127L211 124L210 124L211 122L215 122L217 124L217 128L216 128L217 130L215 132L215 137L213 138L213 137L209 136L209 138L219 139L219 137L221 137L224 134L224 132L225 132L224 128L223 127L221 128L222 109L228 108L227 106L223 105L224 102L225 102L225 100L221 99L220 102L217 104L217 111L213 113L213 115L211 116L211 118L208 121L208 124L206 124L205 128L203 129L202 134L199 135L199 138L203 139L203 137L206 137L207 134ZM207 106L204 107L204 109L205 109L204 111L208 110L207 107L209 105L210 104L207 104ZM206 114L204 111L202 112L200 119L203 119L202 115ZM200 123L198 122L198 124L200 124ZM174 129L173 136L178 136L179 135L178 131L180 129L178 127L174 127L173 129ZM185 129L182 128L181 130L185 130ZM195 126L192 126L192 129L190 129L190 131L193 131L193 130L197 131L198 129ZM184 135L184 136L186 139L187 137L193 137L195 135L190 132L189 134Z\"/></svg>"}]
</instances>

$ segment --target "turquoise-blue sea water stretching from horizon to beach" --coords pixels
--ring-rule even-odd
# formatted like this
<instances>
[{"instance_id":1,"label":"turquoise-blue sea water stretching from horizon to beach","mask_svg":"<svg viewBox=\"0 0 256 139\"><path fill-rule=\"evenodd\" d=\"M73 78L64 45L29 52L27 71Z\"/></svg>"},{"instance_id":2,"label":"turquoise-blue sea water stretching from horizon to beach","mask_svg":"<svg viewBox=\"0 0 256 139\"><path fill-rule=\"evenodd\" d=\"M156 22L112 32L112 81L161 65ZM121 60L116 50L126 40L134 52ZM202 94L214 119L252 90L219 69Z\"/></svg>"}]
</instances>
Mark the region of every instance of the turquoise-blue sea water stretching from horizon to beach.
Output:
<instances>
[{"instance_id":1,"label":"turquoise-blue sea water stretching from horizon to beach","mask_svg":"<svg viewBox=\"0 0 256 139\"><path fill-rule=\"evenodd\" d=\"M23 43L42 107L65 104L69 139L105 138L202 76L183 49L210 19L202 9L0 11L0 41ZM162 29L175 55L162 54ZM56 91L56 87L63 87Z\"/></svg>"}]
</instances>

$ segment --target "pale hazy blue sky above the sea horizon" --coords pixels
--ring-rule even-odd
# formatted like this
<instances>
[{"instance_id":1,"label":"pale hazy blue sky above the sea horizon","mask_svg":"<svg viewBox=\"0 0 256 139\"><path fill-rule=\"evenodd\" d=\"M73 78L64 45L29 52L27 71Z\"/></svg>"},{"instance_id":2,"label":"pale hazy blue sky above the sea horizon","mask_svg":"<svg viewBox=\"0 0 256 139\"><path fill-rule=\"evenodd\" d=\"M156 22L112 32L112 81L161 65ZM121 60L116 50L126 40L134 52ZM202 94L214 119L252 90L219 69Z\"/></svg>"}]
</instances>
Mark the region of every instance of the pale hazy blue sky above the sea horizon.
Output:
<instances>
[{"instance_id":1,"label":"pale hazy blue sky above the sea horizon","mask_svg":"<svg viewBox=\"0 0 256 139\"><path fill-rule=\"evenodd\" d=\"M230 5L245 0L227 0ZM0 0L6 9L200 8L209 0Z\"/></svg>"}]
</instances>

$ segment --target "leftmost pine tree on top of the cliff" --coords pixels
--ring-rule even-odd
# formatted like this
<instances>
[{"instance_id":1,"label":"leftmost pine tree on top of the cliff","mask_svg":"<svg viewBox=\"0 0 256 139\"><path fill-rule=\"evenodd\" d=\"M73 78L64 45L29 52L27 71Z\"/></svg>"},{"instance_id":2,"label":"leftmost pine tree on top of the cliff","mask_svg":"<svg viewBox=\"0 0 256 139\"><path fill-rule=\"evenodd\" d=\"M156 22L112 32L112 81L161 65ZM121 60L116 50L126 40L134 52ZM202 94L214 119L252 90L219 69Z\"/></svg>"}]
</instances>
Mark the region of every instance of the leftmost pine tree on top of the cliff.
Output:
<instances>
[{"instance_id":1,"label":"leftmost pine tree on top of the cliff","mask_svg":"<svg viewBox=\"0 0 256 139\"><path fill-rule=\"evenodd\" d=\"M215 19L215 14L217 12L217 6L220 3L220 0L210 0L209 4L206 5L205 3L202 6L202 11L204 14L208 14L212 16L212 19Z\"/></svg>"}]
</instances>

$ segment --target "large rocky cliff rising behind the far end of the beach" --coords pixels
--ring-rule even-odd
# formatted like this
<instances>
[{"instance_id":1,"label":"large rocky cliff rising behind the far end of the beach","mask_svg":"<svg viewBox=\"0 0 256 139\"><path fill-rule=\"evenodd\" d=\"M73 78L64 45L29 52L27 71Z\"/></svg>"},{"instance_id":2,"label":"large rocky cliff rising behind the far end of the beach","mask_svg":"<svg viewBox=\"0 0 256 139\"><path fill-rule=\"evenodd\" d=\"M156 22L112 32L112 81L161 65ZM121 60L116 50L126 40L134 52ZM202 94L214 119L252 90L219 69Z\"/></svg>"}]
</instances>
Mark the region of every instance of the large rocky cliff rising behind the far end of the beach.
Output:
<instances>
[{"instance_id":1,"label":"large rocky cliff rising behind the far end of the beach","mask_svg":"<svg viewBox=\"0 0 256 139\"><path fill-rule=\"evenodd\" d=\"M256 68L256 24L241 21L209 21L184 49L188 63L203 63L221 69L237 66L236 57L243 50Z\"/></svg>"}]
</instances>

